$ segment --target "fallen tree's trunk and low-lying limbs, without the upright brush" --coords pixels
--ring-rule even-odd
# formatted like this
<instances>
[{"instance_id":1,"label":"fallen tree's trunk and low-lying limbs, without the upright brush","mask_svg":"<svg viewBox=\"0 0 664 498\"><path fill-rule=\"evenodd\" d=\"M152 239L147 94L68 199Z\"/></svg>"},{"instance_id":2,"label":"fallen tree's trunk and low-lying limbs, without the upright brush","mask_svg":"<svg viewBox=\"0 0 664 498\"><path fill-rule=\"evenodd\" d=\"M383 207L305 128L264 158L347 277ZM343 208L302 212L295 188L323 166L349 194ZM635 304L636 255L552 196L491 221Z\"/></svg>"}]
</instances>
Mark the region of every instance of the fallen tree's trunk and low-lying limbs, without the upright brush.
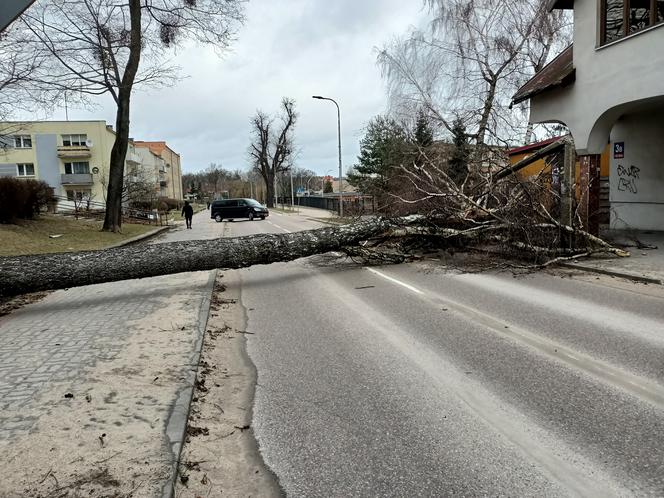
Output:
<instances>
[{"instance_id":1,"label":"fallen tree's trunk and low-lying limbs, without the upright brush","mask_svg":"<svg viewBox=\"0 0 664 498\"><path fill-rule=\"evenodd\" d=\"M399 262L409 256L413 242L436 248L499 246L540 267L596 252L625 255L597 237L554 220L530 225L525 240L519 237L522 228L505 220L477 222L411 215L288 234L5 257L0 258L0 297L182 272L245 268L331 251L370 262ZM557 239L561 234L573 237L576 246L552 248L535 242Z\"/></svg>"}]
</instances>

